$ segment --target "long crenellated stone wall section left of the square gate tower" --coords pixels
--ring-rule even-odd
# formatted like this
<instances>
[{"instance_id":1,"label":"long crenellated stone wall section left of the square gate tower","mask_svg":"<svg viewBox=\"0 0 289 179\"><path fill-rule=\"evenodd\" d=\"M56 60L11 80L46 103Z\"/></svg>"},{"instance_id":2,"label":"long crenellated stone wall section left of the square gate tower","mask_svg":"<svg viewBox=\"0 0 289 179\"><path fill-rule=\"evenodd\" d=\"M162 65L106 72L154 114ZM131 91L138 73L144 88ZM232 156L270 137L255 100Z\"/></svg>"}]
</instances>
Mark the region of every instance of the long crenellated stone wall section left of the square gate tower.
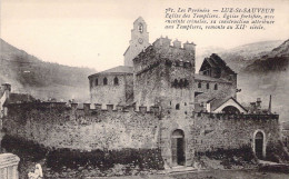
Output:
<instances>
[{"instance_id":1,"label":"long crenellated stone wall section left of the square gate tower","mask_svg":"<svg viewBox=\"0 0 289 179\"><path fill-rule=\"evenodd\" d=\"M76 103L10 105L3 119L7 135L24 138L49 148L79 150L157 148L159 119L156 108L139 112L132 109L90 109Z\"/></svg>"}]
</instances>

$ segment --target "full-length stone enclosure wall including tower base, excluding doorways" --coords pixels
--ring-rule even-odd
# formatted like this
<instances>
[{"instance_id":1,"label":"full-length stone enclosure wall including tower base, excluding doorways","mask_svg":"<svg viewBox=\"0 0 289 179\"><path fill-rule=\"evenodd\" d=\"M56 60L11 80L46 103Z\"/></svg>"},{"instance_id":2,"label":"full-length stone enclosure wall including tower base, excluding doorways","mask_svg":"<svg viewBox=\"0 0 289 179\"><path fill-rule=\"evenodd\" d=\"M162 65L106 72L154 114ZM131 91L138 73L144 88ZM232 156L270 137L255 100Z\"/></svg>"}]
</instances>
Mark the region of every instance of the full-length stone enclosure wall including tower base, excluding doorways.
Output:
<instances>
[{"instance_id":1,"label":"full-length stone enclosure wall including tower base, excluding doorways","mask_svg":"<svg viewBox=\"0 0 289 179\"><path fill-rule=\"evenodd\" d=\"M266 150L280 139L277 115L196 113L187 106L171 108L140 107L112 110L90 109L76 103L10 105L3 119L7 135L24 138L49 148L84 151L121 149L160 149L165 166L172 166L171 138L177 129L185 133L186 166L192 166L197 153L218 149L255 150L255 135L265 136ZM266 153L267 155L267 153ZM268 153L269 155L269 153Z\"/></svg>"}]
</instances>

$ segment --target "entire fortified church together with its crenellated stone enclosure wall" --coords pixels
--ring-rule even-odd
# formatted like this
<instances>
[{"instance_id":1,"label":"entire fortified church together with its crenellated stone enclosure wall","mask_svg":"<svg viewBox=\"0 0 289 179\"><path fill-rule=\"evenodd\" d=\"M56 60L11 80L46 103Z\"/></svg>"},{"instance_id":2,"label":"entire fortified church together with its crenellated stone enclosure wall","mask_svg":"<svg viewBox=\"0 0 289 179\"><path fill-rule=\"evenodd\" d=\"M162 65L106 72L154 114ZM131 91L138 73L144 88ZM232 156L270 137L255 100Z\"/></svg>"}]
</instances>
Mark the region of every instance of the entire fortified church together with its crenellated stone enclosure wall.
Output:
<instances>
[{"instance_id":1,"label":"entire fortified church together with its crenellated stone enclosure wall","mask_svg":"<svg viewBox=\"0 0 289 179\"><path fill-rule=\"evenodd\" d=\"M138 158L155 168L193 166L199 156L219 150L258 159L273 152L279 116L262 110L260 100L240 105L237 73L219 56L205 58L196 73L196 44L167 37L150 43L142 18L133 22L123 56L124 66L88 77L90 103L13 102L6 100L11 87L4 86L7 136L81 153L131 149L111 160Z\"/></svg>"}]
</instances>

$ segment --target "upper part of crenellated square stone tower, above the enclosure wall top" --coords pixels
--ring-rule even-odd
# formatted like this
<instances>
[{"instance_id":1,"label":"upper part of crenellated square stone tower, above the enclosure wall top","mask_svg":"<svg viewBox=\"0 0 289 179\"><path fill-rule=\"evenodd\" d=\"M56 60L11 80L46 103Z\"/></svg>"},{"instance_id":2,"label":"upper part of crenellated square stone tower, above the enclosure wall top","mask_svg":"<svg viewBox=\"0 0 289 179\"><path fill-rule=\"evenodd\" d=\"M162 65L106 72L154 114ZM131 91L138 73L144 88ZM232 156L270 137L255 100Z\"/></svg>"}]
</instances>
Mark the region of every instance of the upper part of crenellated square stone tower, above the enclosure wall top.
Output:
<instances>
[{"instance_id":1,"label":"upper part of crenellated square stone tower, above the enclosure wall top","mask_svg":"<svg viewBox=\"0 0 289 179\"><path fill-rule=\"evenodd\" d=\"M193 102L195 46L191 47L171 47L170 39L160 38L133 59L137 106L172 108Z\"/></svg>"}]
</instances>

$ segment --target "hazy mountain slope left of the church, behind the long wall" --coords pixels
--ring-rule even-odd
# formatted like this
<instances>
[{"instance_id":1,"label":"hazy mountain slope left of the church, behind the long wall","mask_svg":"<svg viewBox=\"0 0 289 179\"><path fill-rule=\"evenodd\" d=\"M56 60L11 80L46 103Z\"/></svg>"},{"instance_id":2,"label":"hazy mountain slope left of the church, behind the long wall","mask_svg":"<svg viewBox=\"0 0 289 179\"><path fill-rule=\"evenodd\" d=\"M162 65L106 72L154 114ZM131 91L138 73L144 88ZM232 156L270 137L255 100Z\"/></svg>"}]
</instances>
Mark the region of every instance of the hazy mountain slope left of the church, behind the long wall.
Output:
<instances>
[{"instance_id":1,"label":"hazy mountain slope left of the church, behind the long wall","mask_svg":"<svg viewBox=\"0 0 289 179\"><path fill-rule=\"evenodd\" d=\"M88 76L96 70L44 62L0 39L0 82L12 91L47 100L89 99Z\"/></svg>"}]
</instances>

